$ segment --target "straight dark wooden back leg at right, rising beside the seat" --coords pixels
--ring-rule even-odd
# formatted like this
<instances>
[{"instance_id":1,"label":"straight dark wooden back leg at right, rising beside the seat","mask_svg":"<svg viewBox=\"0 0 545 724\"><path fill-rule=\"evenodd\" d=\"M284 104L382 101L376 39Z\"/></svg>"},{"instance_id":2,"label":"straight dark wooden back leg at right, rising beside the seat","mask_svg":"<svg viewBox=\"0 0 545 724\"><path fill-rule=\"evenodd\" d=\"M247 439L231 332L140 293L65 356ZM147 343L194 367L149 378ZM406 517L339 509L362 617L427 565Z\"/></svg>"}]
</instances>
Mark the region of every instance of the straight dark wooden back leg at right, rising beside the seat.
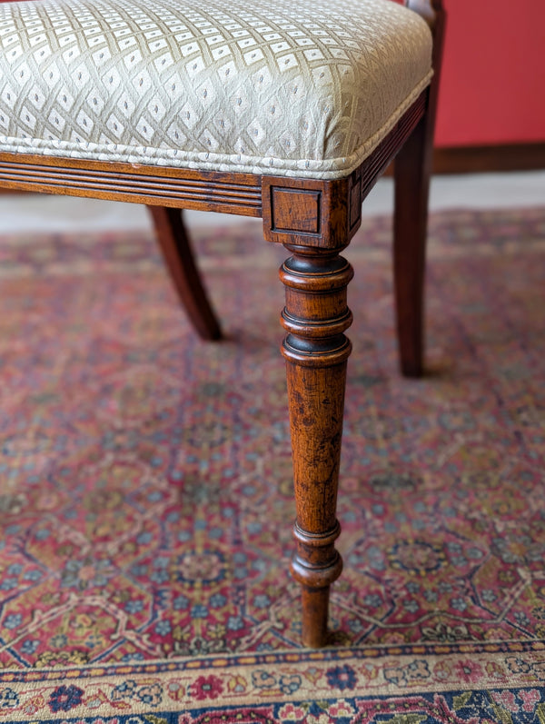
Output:
<instances>
[{"instance_id":1,"label":"straight dark wooden back leg at right, rising beside the seat","mask_svg":"<svg viewBox=\"0 0 545 724\"><path fill-rule=\"evenodd\" d=\"M396 156L393 274L401 372L420 377L424 348L424 276L433 131L441 72L444 12L440 0L410 0L433 33L433 69L426 113Z\"/></svg>"}]
</instances>

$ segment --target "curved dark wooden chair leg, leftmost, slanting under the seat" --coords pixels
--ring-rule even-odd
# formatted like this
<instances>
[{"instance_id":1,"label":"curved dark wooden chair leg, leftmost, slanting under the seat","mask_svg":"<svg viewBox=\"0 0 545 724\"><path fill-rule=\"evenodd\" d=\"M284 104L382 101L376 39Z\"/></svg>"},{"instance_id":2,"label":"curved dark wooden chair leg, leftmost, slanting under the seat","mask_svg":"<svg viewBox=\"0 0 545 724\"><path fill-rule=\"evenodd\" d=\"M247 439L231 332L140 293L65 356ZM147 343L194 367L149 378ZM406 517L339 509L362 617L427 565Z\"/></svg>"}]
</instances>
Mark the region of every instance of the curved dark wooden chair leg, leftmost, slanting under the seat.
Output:
<instances>
[{"instance_id":1,"label":"curved dark wooden chair leg, leftmost, slanting under the seat","mask_svg":"<svg viewBox=\"0 0 545 724\"><path fill-rule=\"evenodd\" d=\"M195 331L203 340L221 339L219 322L208 301L201 275L194 262L189 236L183 224L182 211L166 206L148 206L148 209L154 219L155 232L164 262Z\"/></svg>"}]
</instances>

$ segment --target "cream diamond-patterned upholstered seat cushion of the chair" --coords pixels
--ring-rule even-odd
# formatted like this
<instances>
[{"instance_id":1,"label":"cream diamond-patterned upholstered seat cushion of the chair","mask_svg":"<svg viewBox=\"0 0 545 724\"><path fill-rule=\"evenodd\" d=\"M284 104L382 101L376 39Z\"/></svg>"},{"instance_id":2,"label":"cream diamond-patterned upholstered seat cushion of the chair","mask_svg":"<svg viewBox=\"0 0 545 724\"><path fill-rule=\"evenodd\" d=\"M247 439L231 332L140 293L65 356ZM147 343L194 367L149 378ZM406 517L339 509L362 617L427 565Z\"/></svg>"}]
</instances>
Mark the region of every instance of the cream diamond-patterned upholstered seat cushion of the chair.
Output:
<instances>
[{"instance_id":1,"label":"cream diamond-patterned upholstered seat cushion of the chair","mask_svg":"<svg viewBox=\"0 0 545 724\"><path fill-rule=\"evenodd\" d=\"M430 81L390 0L0 5L0 150L331 179Z\"/></svg>"}]
</instances>

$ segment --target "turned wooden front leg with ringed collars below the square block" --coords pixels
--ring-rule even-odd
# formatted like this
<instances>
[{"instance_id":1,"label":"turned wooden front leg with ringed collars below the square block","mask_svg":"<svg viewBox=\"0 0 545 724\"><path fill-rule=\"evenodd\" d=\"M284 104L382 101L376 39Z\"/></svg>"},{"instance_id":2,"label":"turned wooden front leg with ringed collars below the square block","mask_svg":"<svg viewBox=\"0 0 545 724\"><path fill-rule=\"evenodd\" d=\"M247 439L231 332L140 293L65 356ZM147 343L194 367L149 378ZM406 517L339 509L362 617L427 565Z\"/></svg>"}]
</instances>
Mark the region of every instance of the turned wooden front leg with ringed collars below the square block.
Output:
<instances>
[{"instance_id":1,"label":"turned wooden front leg with ringed collars below the square block","mask_svg":"<svg viewBox=\"0 0 545 724\"><path fill-rule=\"evenodd\" d=\"M291 246L282 264L286 305L286 359L297 549L292 574L302 585L302 640L311 647L327 639L330 585L342 570L335 550L346 361L352 322L346 304L351 265L336 252Z\"/></svg>"}]
</instances>

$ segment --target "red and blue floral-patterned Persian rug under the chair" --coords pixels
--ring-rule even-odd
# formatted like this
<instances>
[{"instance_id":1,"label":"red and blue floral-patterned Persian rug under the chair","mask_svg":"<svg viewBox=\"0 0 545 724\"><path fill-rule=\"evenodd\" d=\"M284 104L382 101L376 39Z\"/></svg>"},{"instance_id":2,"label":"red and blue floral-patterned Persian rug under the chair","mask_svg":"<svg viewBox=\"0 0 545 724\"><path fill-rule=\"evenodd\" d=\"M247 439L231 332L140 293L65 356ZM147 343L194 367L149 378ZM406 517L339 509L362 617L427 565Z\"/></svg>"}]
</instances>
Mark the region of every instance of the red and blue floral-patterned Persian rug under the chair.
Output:
<instances>
[{"instance_id":1,"label":"red and blue floral-patterned Persian rug under the chair","mask_svg":"<svg viewBox=\"0 0 545 724\"><path fill-rule=\"evenodd\" d=\"M148 233L0 238L0 721L545 722L545 209L431 218L401 378L391 223L355 268L331 645L300 645L283 250L196 233L225 340Z\"/></svg>"}]
</instances>

